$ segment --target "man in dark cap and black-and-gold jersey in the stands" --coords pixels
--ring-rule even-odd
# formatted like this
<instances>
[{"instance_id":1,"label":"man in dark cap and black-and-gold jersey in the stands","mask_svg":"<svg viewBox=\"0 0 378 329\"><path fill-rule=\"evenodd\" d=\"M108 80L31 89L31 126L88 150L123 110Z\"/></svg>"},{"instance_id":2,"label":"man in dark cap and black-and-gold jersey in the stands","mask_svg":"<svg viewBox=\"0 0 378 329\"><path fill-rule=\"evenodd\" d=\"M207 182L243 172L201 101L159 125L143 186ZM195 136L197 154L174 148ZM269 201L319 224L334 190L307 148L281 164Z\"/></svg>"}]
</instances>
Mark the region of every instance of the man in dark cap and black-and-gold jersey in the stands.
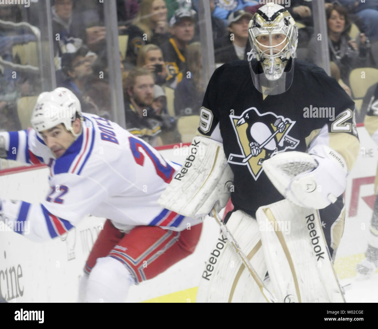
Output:
<instances>
[{"instance_id":1,"label":"man in dark cap and black-and-gold jersey in the stands","mask_svg":"<svg viewBox=\"0 0 378 329\"><path fill-rule=\"evenodd\" d=\"M170 87L175 88L183 78L186 47L194 37L194 14L186 9L178 9L170 19L172 37L161 45L166 61Z\"/></svg>"}]
</instances>

